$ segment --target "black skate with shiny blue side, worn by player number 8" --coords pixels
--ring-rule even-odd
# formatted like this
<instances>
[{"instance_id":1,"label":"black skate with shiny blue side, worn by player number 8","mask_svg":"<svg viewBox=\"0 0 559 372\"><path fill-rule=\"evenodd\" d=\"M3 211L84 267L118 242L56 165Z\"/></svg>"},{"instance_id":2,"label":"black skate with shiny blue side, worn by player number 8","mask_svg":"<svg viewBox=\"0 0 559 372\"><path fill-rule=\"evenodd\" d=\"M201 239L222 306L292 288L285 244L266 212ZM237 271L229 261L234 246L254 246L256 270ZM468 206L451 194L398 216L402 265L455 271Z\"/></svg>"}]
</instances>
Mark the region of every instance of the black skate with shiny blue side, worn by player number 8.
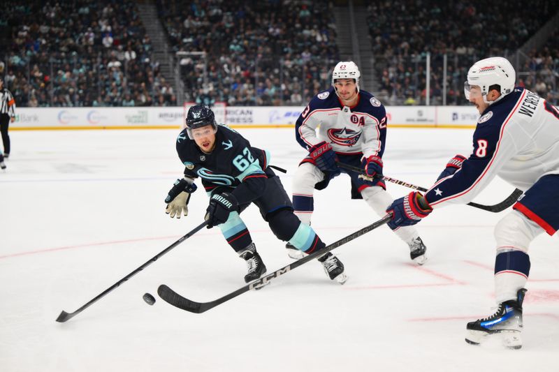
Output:
<instances>
[{"instance_id":1,"label":"black skate with shiny blue side, worn by player number 8","mask_svg":"<svg viewBox=\"0 0 559 372\"><path fill-rule=\"evenodd\" d=\"M502 343L509 349L520 349L522 339L522 302L524 301L525 288L516 293L516 300L499 304L497 311L488 318L469 322L466 326L466 342L479 345L486 336L502 334Z\"/></svg>"}]
</instances>

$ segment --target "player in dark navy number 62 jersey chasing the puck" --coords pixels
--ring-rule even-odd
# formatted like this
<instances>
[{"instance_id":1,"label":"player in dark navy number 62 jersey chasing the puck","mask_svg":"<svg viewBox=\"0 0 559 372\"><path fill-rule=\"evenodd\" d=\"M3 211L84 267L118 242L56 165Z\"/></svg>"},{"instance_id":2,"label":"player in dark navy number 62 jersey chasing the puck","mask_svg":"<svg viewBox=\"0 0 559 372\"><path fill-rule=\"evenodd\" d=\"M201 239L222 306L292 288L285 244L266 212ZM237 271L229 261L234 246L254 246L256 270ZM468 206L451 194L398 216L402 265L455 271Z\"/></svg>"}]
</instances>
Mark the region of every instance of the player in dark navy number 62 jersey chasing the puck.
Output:
<instances>
[{"instance_id":1,"label":"player in dark navy number 62 jersey chasing the puck","mask_svg":"<svg viewBox=\"0 0 559 372\"><path fill-rule=\"evenodd\" d=\"M249 230L239 214L254 203L278 239L289 241L305 253L319 251L326 245L293 214L279 177L268 167L267 151L252 147L242 135L217 125L209 107L195 105L187 114L187 127L177 138L177 153L184 164L184 178L177 179L165 202L171 217L187 216L190 194L196 191L194 179L200 177L210 205L205 219L208 228L219 226L228 244L247 262L245 282L266 273ZM344 283L344 265L328 252L318 259L326 274Z\"/></svg>"}]
</instances>

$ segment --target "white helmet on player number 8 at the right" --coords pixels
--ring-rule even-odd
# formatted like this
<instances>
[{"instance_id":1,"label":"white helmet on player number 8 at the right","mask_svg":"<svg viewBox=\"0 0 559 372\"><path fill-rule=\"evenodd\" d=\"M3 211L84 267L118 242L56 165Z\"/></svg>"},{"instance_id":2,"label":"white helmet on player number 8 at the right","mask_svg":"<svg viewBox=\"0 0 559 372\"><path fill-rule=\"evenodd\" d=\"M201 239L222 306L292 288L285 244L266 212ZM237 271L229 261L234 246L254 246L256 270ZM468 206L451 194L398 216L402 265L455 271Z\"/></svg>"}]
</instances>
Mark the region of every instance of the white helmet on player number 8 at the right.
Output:
<instances>
[{"instance_id":1,"label":"white helmet on player number 8 at the right","mask_svg":"<svg viewBox=\"0 0 559 372\"><path fill-rule=\"evenodd\" d=\"M481 59L473 64L467 72L467 81L464 82L464 94L469 101L471 96L470 88L477 86L481 90L484 102L491 105L511 93L514 90L514 82L516 82L516 73L506 58L491 57ZM487 101L489 87L493 85L500 87L501 96L495 101Z\"/></svg>"}]
</instances>

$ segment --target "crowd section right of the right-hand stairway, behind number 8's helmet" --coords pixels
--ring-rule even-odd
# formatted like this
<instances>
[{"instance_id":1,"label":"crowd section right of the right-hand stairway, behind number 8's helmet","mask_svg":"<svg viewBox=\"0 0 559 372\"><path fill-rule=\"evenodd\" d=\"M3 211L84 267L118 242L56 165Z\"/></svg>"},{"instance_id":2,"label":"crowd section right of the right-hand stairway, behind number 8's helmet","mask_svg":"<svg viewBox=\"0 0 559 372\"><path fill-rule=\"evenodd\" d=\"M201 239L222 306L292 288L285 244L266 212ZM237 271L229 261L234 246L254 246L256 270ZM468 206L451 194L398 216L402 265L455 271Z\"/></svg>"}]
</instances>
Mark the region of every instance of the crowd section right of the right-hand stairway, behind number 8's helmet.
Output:
<instances>
[{"instance_id":1,"label":"crowd section right of the right-hand stairway, behind number 8's helmet","mask_svg":"<svg viewBox=\"0 0 559 372\"><path fill-rule=\"evenodd\" d=\"M374 1L368 6L368 24L380 80L377 94L389 105L425 104L429 52L430 104L441 104L446 54L446 103L463 105L463 82L474 61L513 57L556 12L553 0L532 1L529 10L515 1ZM557 75L559 60L551 59L547 66L554 64ZM532 67L516 66L519 72Z\"/></svg>"}]
</instances>

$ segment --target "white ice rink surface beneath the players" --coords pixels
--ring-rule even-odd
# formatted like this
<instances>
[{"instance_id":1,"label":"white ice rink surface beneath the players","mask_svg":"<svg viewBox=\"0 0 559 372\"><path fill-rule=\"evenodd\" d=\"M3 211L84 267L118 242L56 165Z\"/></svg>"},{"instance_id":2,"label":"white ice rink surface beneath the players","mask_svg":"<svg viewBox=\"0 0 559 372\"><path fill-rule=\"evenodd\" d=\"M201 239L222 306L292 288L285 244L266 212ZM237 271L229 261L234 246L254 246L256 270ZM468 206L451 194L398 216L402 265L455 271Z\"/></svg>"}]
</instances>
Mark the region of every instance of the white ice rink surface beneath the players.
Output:
<instances>
[{"instance_id":1,"label":"white ice rink surface beneath the players","mask_svg":"<svg viewBox=\"0 0 559 372\"><path fill-rule=\"evenodd\" d=\"M269 149L291 181L305 151L293 129L238 129ZM389 128L384 174L428 187L472 129ZM171 219L164 198L182 174L173 130L11 131L0 172L0 371L559 371L559 239L532 242L523 348L464 341L493 313L493 226L507 213L465 205L418 225L422 267L382 226L340 246L345 285L312 261L202 314L157 297L165 283L207 302L245 285L246 265L219 229L203 229L65 323L75 311L203 221L208 198ZM200 185L198 185L200 186ZM407 188L387 184L398 198ZM474 201L513 187L495 179ZM315 194L312 226L331 243L377 221L341 175ZM268 272L291 259L256 207L242 214ZM157 302L149 306L142 295Z\"/></svg>"}]
</instances>

